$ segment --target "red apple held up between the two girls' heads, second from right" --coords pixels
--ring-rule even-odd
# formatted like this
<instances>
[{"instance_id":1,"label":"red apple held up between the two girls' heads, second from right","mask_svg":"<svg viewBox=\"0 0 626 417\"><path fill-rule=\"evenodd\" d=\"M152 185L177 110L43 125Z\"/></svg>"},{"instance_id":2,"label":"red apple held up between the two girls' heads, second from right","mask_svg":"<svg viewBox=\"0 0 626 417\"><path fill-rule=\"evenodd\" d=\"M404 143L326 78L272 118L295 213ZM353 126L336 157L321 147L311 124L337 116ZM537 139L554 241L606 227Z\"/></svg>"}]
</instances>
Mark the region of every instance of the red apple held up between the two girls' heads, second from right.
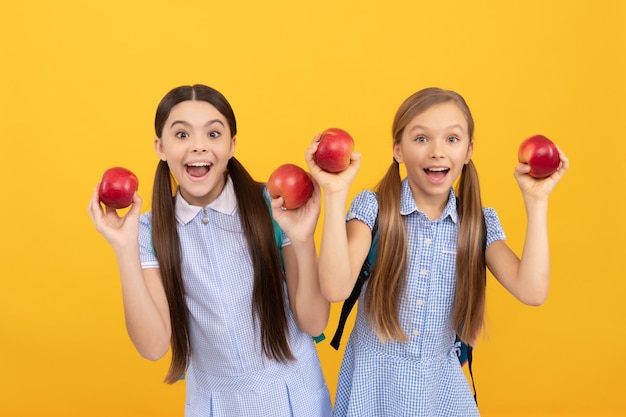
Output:
<instances>
[{"instance_id":1,"label":"red apple held up between the two girls' heads, second from right","mask_svg":"<svg viewBox=\"0 0 626 417\"><path fill-rule=\"evenodd\" d=\"M322 132L313 159L324 171L341 172L350 165L353 149L352 136L345 130L331 127Z\"/></svg>"}]
</instances>

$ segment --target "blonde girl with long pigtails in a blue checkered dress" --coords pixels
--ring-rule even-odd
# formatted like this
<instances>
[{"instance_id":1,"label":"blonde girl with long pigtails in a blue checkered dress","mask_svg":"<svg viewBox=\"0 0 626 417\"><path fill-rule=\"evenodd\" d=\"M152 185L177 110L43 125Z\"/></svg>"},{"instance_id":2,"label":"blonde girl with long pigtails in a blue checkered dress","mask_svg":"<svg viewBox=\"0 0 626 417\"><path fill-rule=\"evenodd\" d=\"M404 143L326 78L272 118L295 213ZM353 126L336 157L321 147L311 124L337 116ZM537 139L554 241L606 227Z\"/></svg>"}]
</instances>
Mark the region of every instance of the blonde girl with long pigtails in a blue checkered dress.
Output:
<instances>
[{"instance_id":1,"label":"blonde girl with long pigtails in a blue checkered dress","mask_svg":"<svg viewBox=\"0 0 626 417\"><path fill-rule=\"evenodd\" d=\"M318 137L307 150L324 190L319 273L329 301L348 298L375 225L379 236L341 366L335 416L478 415L455 333L472 344L481 331L486 268L525 304L540 305L548 295L548 196L569 162L560 153L559 169L544 179L528 175L526 164L515 168L527 213L520 259L505 243L496 212L482 206L473 133L459 94L427 88L411 95L393 122L393 163L376 192L355 197L347 216L360 154L345 171L329 174L313 159Z\"/></svg>"}]
</instances>

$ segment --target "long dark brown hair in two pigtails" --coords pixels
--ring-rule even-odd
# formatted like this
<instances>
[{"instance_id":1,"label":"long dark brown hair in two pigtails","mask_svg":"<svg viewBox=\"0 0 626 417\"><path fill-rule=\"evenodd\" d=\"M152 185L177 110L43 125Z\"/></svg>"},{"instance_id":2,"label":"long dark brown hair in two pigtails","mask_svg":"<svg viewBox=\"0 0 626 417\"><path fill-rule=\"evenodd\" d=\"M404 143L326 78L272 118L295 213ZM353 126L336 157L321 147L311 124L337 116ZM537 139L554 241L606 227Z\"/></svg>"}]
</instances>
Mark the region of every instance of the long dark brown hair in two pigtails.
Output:
<instances>
[{"instance_id":1,"label":"long dark brown hair in two pigtails","mask_svg":"<svg viewBox=\"0 0 626 417\"><path fill-rule=\"evenodd\" d=\"M217 90L200 84L174 88L163 97L154 120L157 137L163 134L163 126L172 108L189 100L206 101L213 105L226 118L232 137L235 137L237 123L230 103ZM283 274L271 215L263 195L263 183L255 181L235 157L229 160L227 167L254 270L251 314L260 324L263 354L277 361L293 360L287 342ZM172 360L165 378L170 384L178 381L185 372L190 354L189 312L185 302L174 195L169 166L167 162L159 161L153 186L152 242L170 309Z\"/></svg>"}]
</instances>

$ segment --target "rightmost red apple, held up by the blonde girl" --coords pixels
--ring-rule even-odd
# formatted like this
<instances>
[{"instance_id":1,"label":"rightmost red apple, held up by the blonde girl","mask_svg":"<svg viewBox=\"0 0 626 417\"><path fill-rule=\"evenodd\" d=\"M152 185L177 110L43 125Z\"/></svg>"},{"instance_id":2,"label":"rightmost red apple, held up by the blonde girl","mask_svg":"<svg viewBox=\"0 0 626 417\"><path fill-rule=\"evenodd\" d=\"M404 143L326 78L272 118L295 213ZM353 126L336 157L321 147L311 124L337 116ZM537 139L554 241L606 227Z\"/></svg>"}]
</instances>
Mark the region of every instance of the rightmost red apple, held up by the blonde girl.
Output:
<instances>
[{"instance_id":1,"label":"rightmost red apple, held up by the blonde girl","mask_svg":"<svg viewBox=\"0 0 626 417\"><path fill-rule=\"evenodd\" d=\"M520 162L530 165L528 174L535 178L549 177L561 163L556 145L543 135L534 135L523 141L517 158Z\"/></svg>"}]
</instances>

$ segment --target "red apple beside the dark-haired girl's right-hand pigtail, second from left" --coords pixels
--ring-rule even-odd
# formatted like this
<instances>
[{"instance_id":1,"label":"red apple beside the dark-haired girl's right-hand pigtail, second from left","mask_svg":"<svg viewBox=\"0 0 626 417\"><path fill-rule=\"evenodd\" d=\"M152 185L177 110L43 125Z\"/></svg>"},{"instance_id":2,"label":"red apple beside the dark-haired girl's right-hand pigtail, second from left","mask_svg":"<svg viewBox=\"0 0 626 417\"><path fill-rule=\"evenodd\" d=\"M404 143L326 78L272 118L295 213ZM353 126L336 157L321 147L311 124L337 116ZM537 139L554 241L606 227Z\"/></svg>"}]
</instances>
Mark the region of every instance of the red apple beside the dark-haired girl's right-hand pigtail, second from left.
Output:
<instances>
[{"instance_id":1,"label":"red apple beside the dark-haired girl's right-hand pigtail, second from left","mask_svg":"<svg viewBox=\"0 0 626 417\"><path fill-rule=\"evenodd\" d=\"M267 191L272 198L283 198L283 207L296 209L313 194L313 181L309 173L294 164L284 164L272 172L267 181Z\"/></svg>"}]
</instances>

